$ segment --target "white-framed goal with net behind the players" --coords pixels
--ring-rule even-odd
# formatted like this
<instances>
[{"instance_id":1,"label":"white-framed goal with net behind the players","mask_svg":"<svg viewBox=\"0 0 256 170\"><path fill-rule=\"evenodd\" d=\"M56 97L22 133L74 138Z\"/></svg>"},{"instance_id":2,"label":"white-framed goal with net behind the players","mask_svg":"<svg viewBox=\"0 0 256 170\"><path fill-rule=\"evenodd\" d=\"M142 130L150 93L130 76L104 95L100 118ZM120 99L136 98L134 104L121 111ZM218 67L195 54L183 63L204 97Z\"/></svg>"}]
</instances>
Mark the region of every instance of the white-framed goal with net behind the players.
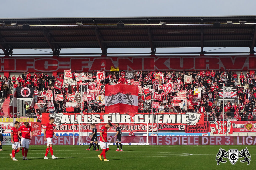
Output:
<instances>
[{"instance_id":1,"label":"white-framed goal with net behind the players","mask_svg":"<svg viewBox=\"0 0 256 170\"><path fill-rule=\"evenodd\" d=\"M92 135L92 129L90 127L91 123L79 123L79 138L78 145L90 145ZM98 142L100 140L100 129L107 123L94 123L97 128ZM149 125L148 123L119 123L121 128L122 145L148 145L148 133ZM117 137L115 123L112 123L112 127L108 129L107 140L109 145L115 145Z\"/></svg>"}]
</instances>

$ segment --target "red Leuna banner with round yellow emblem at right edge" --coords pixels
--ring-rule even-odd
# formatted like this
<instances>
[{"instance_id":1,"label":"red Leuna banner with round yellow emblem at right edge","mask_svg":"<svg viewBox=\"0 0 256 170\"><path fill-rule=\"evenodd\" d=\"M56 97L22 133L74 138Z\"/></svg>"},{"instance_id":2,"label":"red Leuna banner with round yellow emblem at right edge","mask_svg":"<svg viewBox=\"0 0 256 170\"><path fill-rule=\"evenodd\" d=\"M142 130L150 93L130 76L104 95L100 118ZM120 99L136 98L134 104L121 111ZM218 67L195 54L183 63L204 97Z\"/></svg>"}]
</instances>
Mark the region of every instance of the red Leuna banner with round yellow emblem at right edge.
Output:
<instances>
[{"instance_id":1,"label":"red Leuna banner with round yellow emblem at right edge","mask_svg":"<svg viewBox=\"0 0 256 170\"><path fill-rule=\"evenodd\" d=\"M233 132L256 132L256 122L232 121Z\"/></svg>"}]
</instances>

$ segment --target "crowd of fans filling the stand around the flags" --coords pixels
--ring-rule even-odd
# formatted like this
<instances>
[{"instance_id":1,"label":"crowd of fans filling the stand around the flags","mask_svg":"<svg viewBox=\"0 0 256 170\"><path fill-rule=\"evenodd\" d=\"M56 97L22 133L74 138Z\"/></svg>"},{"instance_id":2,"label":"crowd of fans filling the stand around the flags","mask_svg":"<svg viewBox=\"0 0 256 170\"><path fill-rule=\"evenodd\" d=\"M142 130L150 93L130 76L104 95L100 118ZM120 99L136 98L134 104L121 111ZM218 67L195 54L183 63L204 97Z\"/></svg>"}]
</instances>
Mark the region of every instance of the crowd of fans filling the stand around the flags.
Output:
<instances>
[{"instance_id":1,"label":"crowd of fans filling the stand around the flags","mask_svg":"<svg viewBox=\"0 0 256 170\"><path fill-rule=\"evenodd\" d=\"M73 80L75 80L75 73L72 73ZM216 70L206 70L206 71L185 71L175 72L168 71L165 72L155 71L155 72L143 72L137 70L134 72L134 81L139 82L140 86L144 87L145 85L151 85L152 79L155 79L156 73L162 73L163 82L162 84L173 84L175 88L179 91L186 90L187 98L194 94L194 87L201 87L204 89L201 98L198 101L198 105L194 105L193 109L188 109L188 112L204 112L204 120L227 120L228 118L236 118L237 121L247 121L255 120L255 97L256 97L256 76L255 72L247 71L244 75L242 72L236 73L234 71L216 71ZM96 81L96 72L85 74L86 76L92 76L93 81ZM184 75L192 75L192 85L184 85ZM53 90L53 94L63 94L63 102L56 101L55 112L61 113L66 112L66 102L69 102L67 99L67 93L72 93L71 88L61 88L60 90L54 88L54 83L59 79L64 78L64 74L60 72L56 76L51 74L50 76L45 73L33 73L32 75L27 72L23 73L18 77L0 77L0 97L7 98L8 88L14 86L16 87L36 87L34 91L35 101L38 108L35 109L34 106L29 106L29 104L24 104L24 110L26 115L35 116L42 112L49 112L48 103L45 100L46 90ZM84 81L85 83L91 81ZM102 80L101 83L104 85L114 85L118 83L129 83L130 80L125 79L125 72L122 70L120 72L106 72L105 71L105 80ZM219 100L219 87L224 83L225 86L237 86L237 102L227 102L224 103L224 113L222 110L222 99ZM244 88L244 86L247 86ZM153 86L152 86L153 87ZM161 94L165 93L164 90L155 89L155 93ZM186 112L182 110L179 106L173 107L173 97L177 97L177 92L168 94L168 102L160 102L160 106L164 106L164 112ZM245 102L245 100L247 102ZM42 103L42 104L40 104ZM76 107L74 112L81 113L81 110ZM84 103L83 113L93 113L93 112L105 112L104 106L95 106L88 107L87 102ZM152 112L151 108L148 109L138 109L138 112ZM157 109L154 109L154 112L158 112Z\"/></svg>"}]
</instances>

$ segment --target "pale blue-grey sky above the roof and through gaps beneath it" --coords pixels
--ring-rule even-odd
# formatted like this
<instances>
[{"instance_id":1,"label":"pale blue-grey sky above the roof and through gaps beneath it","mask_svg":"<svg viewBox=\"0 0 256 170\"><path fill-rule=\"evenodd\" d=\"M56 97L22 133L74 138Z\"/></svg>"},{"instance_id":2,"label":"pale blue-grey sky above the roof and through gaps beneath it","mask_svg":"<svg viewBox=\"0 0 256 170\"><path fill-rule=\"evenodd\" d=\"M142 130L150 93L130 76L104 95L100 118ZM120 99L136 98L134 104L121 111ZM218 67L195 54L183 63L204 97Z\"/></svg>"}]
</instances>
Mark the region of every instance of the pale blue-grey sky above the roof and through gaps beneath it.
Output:
<instances>
[{"instance_id":1,"label":"pale blue-grey sky above the roof and through gaps beneath it","mask_svg":"<svg viewBox=\"0 0 256 170\"><path fill-rule=\"evenodd\" d=\"M41 17L140 17L140 16L238 16L256 15L256 1L246 0L12 0L2 1L1 18ZM204 48L204 50L215 49ZM50 49L45 49L51 51ZM156 52L199 52L200 48L163 48ZM100 49L62 49L61 53L101 53ZM150 52L145 49L108 49L108 53ZM249 51L249 47L223 48L214 52ZM2 53L2 51L0 52ZM14 49L14 53L42 53L31 49Z\"/></svg>"}]
</instances>

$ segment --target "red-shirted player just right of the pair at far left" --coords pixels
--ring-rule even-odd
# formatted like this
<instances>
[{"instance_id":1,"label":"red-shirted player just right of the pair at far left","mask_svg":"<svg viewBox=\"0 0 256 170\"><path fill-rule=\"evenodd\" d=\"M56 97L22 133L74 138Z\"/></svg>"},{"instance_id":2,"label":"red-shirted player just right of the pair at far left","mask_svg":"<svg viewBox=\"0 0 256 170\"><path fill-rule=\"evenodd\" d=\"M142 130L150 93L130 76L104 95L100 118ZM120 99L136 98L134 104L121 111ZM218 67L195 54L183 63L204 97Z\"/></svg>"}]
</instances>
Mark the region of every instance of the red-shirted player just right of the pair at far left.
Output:
<instances>
[{"instance_id":1,"label":"red-shirted player just right of the pair at far left","mask_svg":"<svg viewBox=\"0 0 256 170\"><path fill-rule=\"evenodd\" d=\"M47 158L47 154L49 153L49 150L51 152L52 159L57 159L57 157L53 155L53 150L52 150L52 136L54 135L58 139L58 137L53 132L54 117L50 117L49 120L50 122L45 125L45 130L44 130L45 141L47 141L47 148L46 148L44 159L49 159Z\"/></svg>"}]
</instances>

